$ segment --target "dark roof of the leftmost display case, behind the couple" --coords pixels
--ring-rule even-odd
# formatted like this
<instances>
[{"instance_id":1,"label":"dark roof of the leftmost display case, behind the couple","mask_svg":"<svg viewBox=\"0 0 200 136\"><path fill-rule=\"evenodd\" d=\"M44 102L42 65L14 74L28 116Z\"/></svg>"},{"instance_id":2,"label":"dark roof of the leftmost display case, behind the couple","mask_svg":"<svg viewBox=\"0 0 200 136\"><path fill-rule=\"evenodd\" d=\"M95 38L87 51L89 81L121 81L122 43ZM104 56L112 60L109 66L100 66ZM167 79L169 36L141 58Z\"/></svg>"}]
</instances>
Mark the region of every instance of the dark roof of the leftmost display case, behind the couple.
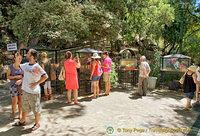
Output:
<instances>
[{"instance_id":1,"label":"dark roof of the leftmost display case, behind the couple","mask_svg":"<svg viewBox=\"0 0 200 136\"><path fill-rule=\"evenodd\" d=\"M35 49L37 51L58 51L58 50L60 50L58 48L51 48L51 47L44 46L44 45L27 46L21 50L29 50L29 49Z\"/></svg>"}]
</instances>

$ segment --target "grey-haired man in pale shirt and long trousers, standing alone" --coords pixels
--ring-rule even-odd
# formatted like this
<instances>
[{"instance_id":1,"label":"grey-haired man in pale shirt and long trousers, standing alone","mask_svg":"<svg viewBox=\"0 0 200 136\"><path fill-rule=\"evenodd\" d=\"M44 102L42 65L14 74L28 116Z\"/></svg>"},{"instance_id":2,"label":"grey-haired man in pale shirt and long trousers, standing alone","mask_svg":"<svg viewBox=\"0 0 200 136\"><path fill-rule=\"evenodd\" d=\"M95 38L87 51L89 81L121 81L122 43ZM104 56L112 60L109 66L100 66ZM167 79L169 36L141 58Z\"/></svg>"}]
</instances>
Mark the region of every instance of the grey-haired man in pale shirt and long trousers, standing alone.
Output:
<instances>
[{"instance_id":1,"label":"grey-haired man in pale shirt and long trousers, standing alone","mask_svg":"<svg viewBox=\"0 0 200 136\"><path fill-rule=\"evenodd\" d=\"M146 62L146 57L142 56L140 58L140 66L139 66L139 81L138 81L138 93L142 96L146 96L147 91L147 78L149 77L149 73L151 72L149 64Z\"/></svg>"}]
</instances>

